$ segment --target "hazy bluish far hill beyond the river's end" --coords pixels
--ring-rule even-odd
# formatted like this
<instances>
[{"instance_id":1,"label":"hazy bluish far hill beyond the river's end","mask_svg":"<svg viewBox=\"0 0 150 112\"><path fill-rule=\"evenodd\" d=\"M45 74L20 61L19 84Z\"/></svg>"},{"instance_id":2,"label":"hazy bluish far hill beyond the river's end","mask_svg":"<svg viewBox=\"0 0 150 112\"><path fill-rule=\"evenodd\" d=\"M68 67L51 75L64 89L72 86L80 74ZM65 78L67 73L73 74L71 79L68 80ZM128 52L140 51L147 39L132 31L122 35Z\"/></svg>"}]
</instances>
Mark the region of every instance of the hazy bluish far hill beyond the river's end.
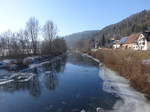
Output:
<instances>
[{"instance_id":1,"label":"hazy bluish far hill beyond the river's end","mask_svg":"<svg viewBox=\"0 0 150 112\"><path fill-rule=\"evenodd\" d=\"M73 33L71 35L64 36L63 38L66 40L67 45L69 48L72 48L75 46L76 42L82 41L82 40L89 40L93 37L95 37L98 34L98 30L91 30L91 31L83 31L78 33Z\"/></svg>"}]
</instances>

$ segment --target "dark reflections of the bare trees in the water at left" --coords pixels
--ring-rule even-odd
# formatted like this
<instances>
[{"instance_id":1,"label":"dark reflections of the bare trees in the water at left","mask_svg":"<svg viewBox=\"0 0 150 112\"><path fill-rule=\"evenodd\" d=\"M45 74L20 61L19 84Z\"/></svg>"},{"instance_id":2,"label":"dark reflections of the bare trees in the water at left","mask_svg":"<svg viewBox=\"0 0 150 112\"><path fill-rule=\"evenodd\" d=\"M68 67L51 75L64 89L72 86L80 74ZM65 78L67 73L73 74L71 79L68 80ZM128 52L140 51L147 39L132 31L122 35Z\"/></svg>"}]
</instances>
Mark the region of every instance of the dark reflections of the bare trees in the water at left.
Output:
<instances>
[{"instance_id":1,"label":"dark reflections of the bare trees in the water at left","mask_svg":"<svg viewBox=\"0 0 150 112\"><path fill-rule=\"evenodd\" d=\"M23 72L29 72L36 74L31 80L27 82L8 82L6 84L0 85L0 92L14 93L16 91L28 91L28 93L33 97L39 97L41 95L42 83L44 87L48 90L55 90L58 85L57 74L63 72L65 69L66 57L61 60L56 60L55 63L46 63L41 66L26 68L20 70Z\"/></svg>"}]
</instances>

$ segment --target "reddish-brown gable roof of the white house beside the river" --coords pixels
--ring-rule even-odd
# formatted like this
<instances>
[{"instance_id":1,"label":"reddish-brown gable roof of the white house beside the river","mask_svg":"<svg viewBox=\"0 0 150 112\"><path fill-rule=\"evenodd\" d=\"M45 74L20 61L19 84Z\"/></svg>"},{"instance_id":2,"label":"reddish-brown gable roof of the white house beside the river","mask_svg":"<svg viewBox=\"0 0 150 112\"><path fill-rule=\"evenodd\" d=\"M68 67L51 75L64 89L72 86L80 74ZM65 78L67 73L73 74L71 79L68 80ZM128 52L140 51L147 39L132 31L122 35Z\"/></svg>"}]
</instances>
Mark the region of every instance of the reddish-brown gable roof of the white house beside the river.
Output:
<instances>
[{"instance_id":1,"label":"reddish-brown gable roof of the white house beside the river","mask_svg":"<svg viewBox=\"0 0 150 112\"><path fill-rule=\"evenodd\" d=\"M128 39L126 40L125 44L135 43L139 38L139 35L140 33L131 34L130 36L128 36Z\"/></svg>"}]
</instances>

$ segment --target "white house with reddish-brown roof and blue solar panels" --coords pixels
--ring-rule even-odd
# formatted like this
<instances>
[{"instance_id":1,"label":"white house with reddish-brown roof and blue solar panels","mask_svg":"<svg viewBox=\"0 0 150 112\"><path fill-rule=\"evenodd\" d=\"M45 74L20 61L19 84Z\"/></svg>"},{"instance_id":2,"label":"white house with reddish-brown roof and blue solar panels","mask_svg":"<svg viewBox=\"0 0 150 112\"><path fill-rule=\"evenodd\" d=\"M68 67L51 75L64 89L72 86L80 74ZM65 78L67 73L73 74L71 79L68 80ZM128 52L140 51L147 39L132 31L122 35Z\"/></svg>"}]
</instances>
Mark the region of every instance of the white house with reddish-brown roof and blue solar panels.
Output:
<instances>
[{"instance_id":1,"label":"white house with reddish-brown roof and blue solar panels","mask_svg":"<svg viewBox=\"0 0 150 112\"><path fill-rule=\"evenodd\" d=\"M114 41L113 48L150 50L150 31L144 33L134 33L128 37Z\"/></svg>"}]
</instances>

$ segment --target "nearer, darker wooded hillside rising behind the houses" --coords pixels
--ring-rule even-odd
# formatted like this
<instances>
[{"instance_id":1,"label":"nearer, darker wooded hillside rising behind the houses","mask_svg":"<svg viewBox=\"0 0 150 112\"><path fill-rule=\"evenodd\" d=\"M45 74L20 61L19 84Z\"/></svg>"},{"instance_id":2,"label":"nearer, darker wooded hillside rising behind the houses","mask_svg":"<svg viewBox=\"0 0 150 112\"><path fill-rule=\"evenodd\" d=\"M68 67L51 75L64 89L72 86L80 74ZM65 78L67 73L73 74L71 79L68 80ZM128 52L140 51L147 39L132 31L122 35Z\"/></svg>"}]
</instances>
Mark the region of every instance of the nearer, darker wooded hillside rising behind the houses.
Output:
<instances>
[{"instance_id":1,"label":"nearer, darker wooded hillside rising behind the houses","mask_svg":"<svg viewBox=\"0 0 150 112\"><path fill-rule=\"evenodd\" d=\"M128 18L116 23L109 25L99 31L96 39L102 39L105 36L107 39L128 36L132 33L142 32L148 26L150 26L150 10L144 10L129 16Z\"/></svg>"}]
</instances>

